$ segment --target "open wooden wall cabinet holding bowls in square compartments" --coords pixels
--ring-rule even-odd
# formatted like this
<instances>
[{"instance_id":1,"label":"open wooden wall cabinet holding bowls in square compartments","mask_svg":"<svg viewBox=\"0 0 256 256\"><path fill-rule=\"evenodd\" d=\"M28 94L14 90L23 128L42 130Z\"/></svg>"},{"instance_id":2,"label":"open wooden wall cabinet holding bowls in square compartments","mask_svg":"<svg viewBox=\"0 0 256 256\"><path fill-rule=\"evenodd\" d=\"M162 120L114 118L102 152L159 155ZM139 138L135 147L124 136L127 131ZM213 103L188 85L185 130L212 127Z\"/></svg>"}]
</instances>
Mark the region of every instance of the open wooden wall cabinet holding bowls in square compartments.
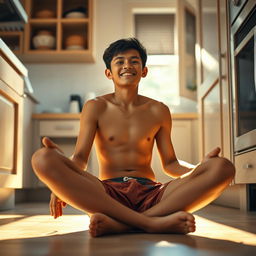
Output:
<instances>
[{"instance_id":1,"label":"open wooden wall cabinet holding bowls in square compartments","mask_svg":"<svg viewBox=\"0 0 256 256\"><path fill-rule=\"evenodd\" d=\"M26 62L91 62L93 0L25 0Z\"/></svg>"}]
</instances>

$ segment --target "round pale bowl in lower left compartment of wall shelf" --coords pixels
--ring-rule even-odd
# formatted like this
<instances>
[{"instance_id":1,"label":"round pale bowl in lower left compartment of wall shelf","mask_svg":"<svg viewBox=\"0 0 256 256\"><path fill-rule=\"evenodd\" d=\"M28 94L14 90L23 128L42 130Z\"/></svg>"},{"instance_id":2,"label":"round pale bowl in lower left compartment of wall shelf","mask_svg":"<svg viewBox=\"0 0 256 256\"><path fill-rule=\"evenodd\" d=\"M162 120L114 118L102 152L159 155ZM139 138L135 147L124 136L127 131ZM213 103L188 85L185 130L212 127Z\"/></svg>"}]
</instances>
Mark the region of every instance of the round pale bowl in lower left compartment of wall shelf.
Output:
<instances>
[{"instance_id":1,"label":"round pale bowl in lower left compartment of wall shelf","mask_svg":"<svg viewBox=\"0 0 256 256\"><path fill-rule=\"evenodd\" d=\"M41 30L32 39L35 49L50 50L55 46L55 37L51 31Z\"/></svg>"}]
</instances>

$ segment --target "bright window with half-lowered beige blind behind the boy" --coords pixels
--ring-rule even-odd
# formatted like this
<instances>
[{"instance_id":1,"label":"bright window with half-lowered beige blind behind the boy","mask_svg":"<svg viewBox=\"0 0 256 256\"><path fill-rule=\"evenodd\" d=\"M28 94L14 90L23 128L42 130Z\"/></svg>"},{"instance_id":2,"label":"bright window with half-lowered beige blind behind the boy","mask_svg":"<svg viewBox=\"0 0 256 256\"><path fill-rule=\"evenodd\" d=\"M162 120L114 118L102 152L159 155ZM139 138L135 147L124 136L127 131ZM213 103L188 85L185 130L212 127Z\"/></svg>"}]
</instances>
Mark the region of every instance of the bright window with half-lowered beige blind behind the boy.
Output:
<instances>
[{"instance_id":1,"label":"bright window with half-lowered beige blind behind the boy","mask_svg":"<svg viewBox=\"0 0 256 256\"><path fill-rule=\"evenodd\" d=\"M179 65L175 55L175 15L172 13L134 14L135 36L148 52L146 78L139 93L167 105L179 104Z\"/></svg>"}]
</instances>

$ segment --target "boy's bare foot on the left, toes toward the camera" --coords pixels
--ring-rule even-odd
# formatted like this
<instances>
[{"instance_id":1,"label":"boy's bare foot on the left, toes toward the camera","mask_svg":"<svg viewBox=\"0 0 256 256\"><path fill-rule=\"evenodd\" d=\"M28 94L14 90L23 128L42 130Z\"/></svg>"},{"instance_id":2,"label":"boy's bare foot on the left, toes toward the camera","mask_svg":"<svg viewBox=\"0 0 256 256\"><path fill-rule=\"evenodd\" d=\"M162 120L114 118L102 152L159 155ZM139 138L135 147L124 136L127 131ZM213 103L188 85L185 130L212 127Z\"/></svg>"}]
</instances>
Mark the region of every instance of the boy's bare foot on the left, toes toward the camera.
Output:
<instances>
[{"instance_id":1,"label":"boy's bare foot on the left, toes toward the camera","mask_svg":"<svg viewBox=\"0 0 256 256\"><path fill-rule=\"evenodd\" d=\"M89 232L91 236L127 233L131 228L118 222L103 213L95 213L90 218Z\"/></svg>"}]
</instances>

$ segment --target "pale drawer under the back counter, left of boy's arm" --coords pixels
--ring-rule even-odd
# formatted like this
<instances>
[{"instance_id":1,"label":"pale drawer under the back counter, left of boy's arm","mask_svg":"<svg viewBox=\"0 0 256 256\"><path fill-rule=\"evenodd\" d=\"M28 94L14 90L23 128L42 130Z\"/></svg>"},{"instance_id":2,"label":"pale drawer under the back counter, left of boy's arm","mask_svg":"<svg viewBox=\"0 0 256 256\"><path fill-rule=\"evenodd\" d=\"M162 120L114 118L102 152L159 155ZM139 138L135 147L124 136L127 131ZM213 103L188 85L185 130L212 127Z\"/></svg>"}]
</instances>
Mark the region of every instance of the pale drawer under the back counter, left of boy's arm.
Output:
<instances>
[{"instance_id":1,"label":"pale drawer under the back counter, left of boy's arm","mask_svg":"<svg viewBox=\"0 0 256 256\"><path fill-rule=\"evenodd\" d=\"M49 137L77 137L79 120L40 121L39 135Z\"/></svg>"}]
</instances>

